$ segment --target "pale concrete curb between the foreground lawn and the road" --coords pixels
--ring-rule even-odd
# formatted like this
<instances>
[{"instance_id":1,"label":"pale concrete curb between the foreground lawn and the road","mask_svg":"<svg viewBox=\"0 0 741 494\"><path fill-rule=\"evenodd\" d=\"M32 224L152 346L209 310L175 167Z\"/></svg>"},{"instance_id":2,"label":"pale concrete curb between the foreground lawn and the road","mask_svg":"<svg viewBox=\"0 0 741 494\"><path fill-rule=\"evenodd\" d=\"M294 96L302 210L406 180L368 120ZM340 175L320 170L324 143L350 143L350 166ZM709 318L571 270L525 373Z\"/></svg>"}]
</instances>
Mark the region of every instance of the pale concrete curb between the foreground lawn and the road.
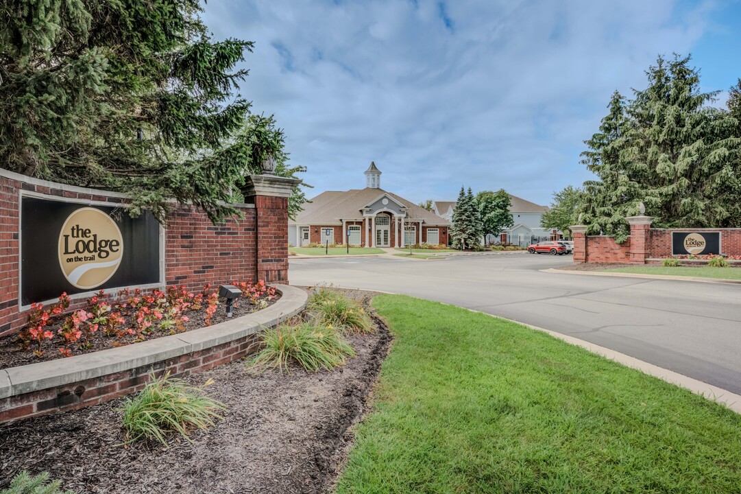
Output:
<instances>
[{"instance_id":1,"label":"pale concrete curb between the foreground lawn and the road","mask_svg":"<svg viewBox=\"0 0 741 494\"><path fill-rule=\"evenodd\" d=\"M568 272L568 271L559 271L559 272ZM336 288L345 288L345 287L336 287ZM368 290L368 292L378 292L378 290ZM383 292L383 293L391 294L391 295L398 295L392 292ZM432 300L432 301L436 302L436 300ZM445 303L445 302L440 302L440 303L445 304L446 306L453 306L450 303ZM459 307L459 306L453 306L453 307ZM479 314L484 314L489 317L495 317L496 319L507 320L511 323L521 324L522 326L526 326L530 329L535 329L537 331L548 333L548 335L556 337L559 340L565 341L565 343L579 346L587 350L588 352L592 352L604 358L608 358L609 360L613 360L626 367L630 367L631 369L639 370L640 372L643 372L644 374L654 376L654 378L659 378L662 381L665 381L667 383L674 384L675 386L688 389L689 391L694 392L696 395L700 395L703 398L706 398L710 401L714 401L717 404L721 404L727 407L728 409L731 409L734 412L741 414L741 395L732 393L728 391L727 389L722 389L722 388L719 388L718 386L713 386L712 384L698 381L697 379L689 378L688 376L679 374L678 372L674 372L669 369L664 369L663 367L655 366L653 363L648 363L643 360L639 360L637 358L631 357L630 355L625 355L624 353L616 352L615 350L605 348L604 346L595 345L594 343L589 343L588 341L585 341L585 340L579 340L579 338L575 338L573 336L562 335L561 333L551 331L550 329L541 328L539 326L533 326L532 324L528 324L528 323L521 323L519 322L519 320L508 319L507 317L500 317L494 314L488 314L487 312L477 311L475 309L467 309L465 307L459 307L459 308L466 309L470 312L477 312Z\"/></svg>"}]
</instances>

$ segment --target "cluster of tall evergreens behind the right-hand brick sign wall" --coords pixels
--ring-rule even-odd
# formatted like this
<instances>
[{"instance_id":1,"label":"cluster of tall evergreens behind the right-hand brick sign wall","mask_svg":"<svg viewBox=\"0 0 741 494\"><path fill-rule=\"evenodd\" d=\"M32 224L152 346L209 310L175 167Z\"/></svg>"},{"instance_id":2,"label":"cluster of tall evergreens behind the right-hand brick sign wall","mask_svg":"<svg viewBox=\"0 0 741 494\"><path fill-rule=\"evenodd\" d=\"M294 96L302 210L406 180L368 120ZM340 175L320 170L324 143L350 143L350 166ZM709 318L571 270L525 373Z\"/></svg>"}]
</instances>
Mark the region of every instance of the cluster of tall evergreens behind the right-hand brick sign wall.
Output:
<instances>
[{"instance_id":1,"label":"cluster of tall evergreens behind the right-hand brick sign wall","mask_svg":"<svg viewBox=\"0 0 741 494\"><path fill-rule=\"evenodd\" d=\"M741 139L737 120L711 108L689 57L657 59L648 88L615 93L599 133L582 154L599 180L585 182L580 212L588 232L628 235L625 217L645 214L659 227L737 226L741 217Z\"/></svg>"}]
</instances>

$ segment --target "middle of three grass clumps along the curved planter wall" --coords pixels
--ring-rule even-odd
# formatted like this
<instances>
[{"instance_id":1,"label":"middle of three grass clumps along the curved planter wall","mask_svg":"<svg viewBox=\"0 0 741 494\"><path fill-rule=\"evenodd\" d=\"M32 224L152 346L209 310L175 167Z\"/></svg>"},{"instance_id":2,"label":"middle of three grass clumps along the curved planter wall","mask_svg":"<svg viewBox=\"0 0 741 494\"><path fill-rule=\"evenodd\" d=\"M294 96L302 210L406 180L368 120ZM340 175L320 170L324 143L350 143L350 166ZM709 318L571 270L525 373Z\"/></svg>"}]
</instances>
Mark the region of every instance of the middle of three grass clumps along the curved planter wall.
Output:
<instances>
[{"instance_id":1,"label":"middle of three grass clumps along the curved planter wall","mask_svg":"<svg viewBox=\"0 0 741 494\"><path fill-rule=\"evenodd\" d=\"M353 357L355 351L335 329L320 326L316 320L302 323L284 323L262 335L263 348L247 367L256 371L280 369L290 372L291 361L299 363L307 372L332 370Z\"/></svg>"}]
</instances>

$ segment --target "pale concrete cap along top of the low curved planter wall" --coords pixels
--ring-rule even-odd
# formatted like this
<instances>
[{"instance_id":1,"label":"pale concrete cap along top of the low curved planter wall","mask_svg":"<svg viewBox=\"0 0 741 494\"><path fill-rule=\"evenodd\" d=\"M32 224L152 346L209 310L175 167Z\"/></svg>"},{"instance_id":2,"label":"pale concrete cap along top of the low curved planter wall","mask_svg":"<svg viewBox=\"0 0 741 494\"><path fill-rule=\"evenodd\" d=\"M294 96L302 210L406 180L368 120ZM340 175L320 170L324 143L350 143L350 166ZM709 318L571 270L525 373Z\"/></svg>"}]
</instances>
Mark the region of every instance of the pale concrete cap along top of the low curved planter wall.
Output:
<instances>
[{"instance_id":1,"label":"pale concrete cap along top of the low curved planter wall","mask_svg":"<svg viewBox=\"0 0 741 494\"><path fill-rule=\"evenodd\" d=\"M276 326L304 309L308 300L304 290L288 285L273 286L281 293L280 300L268 309L234 320L133 345L2 369L0 398L99 378L239 340Z\"/></svg>"}]
</instances>

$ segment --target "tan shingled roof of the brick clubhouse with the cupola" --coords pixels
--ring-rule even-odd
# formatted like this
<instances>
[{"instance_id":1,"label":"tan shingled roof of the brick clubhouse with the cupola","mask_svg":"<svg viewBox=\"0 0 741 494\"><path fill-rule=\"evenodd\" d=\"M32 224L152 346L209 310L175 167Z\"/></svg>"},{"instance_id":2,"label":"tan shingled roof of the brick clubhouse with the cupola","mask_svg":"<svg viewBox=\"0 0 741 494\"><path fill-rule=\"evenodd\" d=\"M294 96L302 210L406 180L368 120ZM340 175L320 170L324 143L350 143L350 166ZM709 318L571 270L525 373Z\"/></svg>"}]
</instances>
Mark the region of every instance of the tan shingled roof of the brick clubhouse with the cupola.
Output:
<instances>
[{"instance_id":1,"label":"tan shingled roof of the brick clubhouse with the cupola","mask_svg":"<svg viewBox=\"0 0 741 494\"><path fill-rule=\"evenodd\" d=\"M289 220L289 225L339 225L342 220L363 218L362 209L383 196L407 208L407 218L422 220L427 225L450 225L448 220L431 211L416 205L380 188L360 188L349 191L327 191L314 197L304 205L304 211L296 215L296 220Z\"/></svg>"}]
</instances>

